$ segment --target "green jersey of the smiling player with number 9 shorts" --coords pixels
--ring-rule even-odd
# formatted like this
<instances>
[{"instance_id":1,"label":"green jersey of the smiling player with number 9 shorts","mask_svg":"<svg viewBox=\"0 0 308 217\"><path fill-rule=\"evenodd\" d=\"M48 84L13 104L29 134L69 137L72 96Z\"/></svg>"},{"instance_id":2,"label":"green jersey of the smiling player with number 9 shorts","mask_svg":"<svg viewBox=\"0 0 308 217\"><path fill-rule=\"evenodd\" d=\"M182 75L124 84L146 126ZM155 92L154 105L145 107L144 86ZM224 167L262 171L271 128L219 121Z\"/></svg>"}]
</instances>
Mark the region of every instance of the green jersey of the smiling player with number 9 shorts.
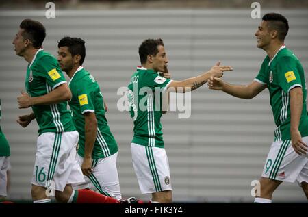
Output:
<instances>
[{"instance_id":1,"label":"green jersey of the smiling player with number 9 shorts","mask_svg":"<svg viewBox=\"0 0 308 217\"><path fill-rule=\"evenodd\" d=\"M300 86L303 90L303 110L298 129L301 136L308 136L308 114L306 107L305 73L300 61L292 51L281 47L272 58L266 56L259 74L255 78L261 84L266 84L270 91L270 105L277 128L274 131L274 141L290 140L290 90Z\"/></svg>"}]
</instances>

